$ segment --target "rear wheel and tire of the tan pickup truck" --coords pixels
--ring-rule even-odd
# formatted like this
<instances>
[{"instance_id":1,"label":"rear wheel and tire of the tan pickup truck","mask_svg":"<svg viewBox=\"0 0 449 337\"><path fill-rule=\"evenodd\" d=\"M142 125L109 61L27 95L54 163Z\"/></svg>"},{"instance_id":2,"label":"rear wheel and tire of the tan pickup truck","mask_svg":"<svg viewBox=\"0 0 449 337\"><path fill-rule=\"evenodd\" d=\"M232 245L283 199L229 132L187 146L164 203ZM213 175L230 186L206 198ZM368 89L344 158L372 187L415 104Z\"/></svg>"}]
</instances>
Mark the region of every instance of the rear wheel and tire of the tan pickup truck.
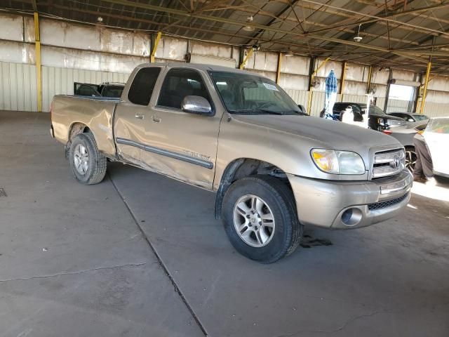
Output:
<instances>
[{"instance_id":1,"label":"rear wheel and tire of the tan pickup truck","mask_svg":"<svg viewBox=\"0 0 449 337\"><path fill-rule=\"evenodd\" d=\"M107 159L98 151L92 133L79 133L72 140L69 162L75 179L83 185L98 184L105 178Z\"/></svg>"}]
</instances>

